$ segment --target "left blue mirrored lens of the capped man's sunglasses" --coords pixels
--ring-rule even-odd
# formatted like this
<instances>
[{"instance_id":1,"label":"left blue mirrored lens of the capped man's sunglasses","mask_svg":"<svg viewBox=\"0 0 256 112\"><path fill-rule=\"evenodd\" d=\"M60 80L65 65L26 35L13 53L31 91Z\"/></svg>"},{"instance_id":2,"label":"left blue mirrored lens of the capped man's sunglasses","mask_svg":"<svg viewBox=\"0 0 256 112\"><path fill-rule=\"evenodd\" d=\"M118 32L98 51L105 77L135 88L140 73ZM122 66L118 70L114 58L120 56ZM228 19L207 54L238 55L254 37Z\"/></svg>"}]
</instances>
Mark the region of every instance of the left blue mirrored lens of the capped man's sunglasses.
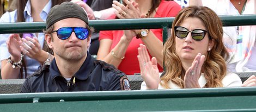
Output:
<instances>
[{"instance_id":1,"label":"left blue mirrored lens of the capped man's sunglasses","mask_svg":"<svg viewBox=\"0 0 256 112\"><path fill-rule=\"evenodd\" d=\"M63 28L60 28L58 30L57 36L58 36L59 39L65 40L65 39L69 38L71 33L72 33L72 28L70 28L70 27L63 27Z\"/></svg>"}]
</instances>

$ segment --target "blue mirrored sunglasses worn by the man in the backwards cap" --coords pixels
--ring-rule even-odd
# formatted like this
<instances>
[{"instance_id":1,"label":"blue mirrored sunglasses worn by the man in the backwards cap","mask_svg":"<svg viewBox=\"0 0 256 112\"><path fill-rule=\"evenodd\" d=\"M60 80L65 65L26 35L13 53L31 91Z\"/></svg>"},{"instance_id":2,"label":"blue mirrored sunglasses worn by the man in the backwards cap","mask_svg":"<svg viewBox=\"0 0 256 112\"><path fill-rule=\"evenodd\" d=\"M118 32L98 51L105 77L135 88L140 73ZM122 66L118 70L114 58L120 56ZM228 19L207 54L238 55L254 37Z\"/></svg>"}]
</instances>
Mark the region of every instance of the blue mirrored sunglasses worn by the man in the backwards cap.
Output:
<instances>
[{"instance_id":1,"label":"blue mirrored sunglasses worn by the man in the backwards cap","mask_svg":"<svg viewBox=\"0 0 256 112\"><path fill-rule=\"evenodd\" d=\"M75 32L76 38L78 39L84 40L88 38L88 29L83 27L62 27L53 32L57 32L58 38L62 40L68 39L72 32Z\"/></svg>"}]
</instances>

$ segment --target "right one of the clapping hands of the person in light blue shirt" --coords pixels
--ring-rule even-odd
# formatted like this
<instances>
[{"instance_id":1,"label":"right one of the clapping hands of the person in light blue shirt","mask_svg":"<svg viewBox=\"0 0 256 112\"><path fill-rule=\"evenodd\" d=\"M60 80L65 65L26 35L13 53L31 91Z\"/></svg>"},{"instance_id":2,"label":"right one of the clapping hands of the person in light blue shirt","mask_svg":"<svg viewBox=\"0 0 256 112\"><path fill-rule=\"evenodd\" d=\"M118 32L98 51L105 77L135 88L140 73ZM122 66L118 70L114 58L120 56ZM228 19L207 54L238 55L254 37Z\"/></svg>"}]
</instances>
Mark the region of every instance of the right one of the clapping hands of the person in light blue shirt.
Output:
<instances>
[{"instance_id":1,"label":"right one of the clapping hands of the person in light blue shirt","mask_svg":"<svg viewBox=\"0 0 256 112\"><path fill-rule=\"evenodd\" d=\"M41 57L42 49L37 38L22 38L22 45L20 46L23 54L26 54L29 58L38 60Z\"/></svg>"}]
</instances>

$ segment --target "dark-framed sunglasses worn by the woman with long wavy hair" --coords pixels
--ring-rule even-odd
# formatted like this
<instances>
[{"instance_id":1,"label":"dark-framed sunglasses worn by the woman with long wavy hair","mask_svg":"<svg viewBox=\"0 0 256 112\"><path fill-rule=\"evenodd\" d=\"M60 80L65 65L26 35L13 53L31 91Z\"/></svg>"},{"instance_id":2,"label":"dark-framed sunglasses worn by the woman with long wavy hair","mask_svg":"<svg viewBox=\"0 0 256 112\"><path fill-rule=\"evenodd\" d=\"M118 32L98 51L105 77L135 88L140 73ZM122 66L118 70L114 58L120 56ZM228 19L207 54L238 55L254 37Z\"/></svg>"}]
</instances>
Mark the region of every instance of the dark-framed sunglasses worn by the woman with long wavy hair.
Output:
<instances>
[{"instance_id":1,"label":"dark-framed sunglasses worn by the woman with long wavy hair","mask_svg":"<svg viewBox=\"0 0 256 112\"><path fill-rule=\"evenodd\" d=\"M174 32L175 32L175 35L180 39L186 38L188 33L191 32L192 39L194 39L196 41L203 40L204 36L207 33L207 31L203 30L203 29L194 29L194 30L190 31L187 28L180 27L180 26L175 26ZM209 36L209 39L211 39L210 36Z\"/></svg>"}]
</instances>

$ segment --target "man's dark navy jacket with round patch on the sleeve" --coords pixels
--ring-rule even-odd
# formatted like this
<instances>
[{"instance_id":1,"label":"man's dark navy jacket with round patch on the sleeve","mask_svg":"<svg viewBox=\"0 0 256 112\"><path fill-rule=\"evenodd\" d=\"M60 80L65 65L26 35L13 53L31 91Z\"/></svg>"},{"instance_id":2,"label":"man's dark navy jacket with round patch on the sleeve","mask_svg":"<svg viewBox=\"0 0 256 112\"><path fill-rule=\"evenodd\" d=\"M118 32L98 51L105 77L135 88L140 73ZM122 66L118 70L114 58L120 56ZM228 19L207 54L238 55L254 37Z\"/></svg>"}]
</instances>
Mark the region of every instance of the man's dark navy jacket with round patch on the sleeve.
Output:
<instances>
[{"instance_id":1,"label":"man's dark navy jacket with round patch on the sleeve","mask_svg":"<svg viewBox=\"0 0 256 112\"><path fill-rule=\"evenodd\" d=\"M130 90L126 75L104 61L87 58L70 81L60 75L56 60L26 78L21 92Z\"/></svg>"}]
</instances>

